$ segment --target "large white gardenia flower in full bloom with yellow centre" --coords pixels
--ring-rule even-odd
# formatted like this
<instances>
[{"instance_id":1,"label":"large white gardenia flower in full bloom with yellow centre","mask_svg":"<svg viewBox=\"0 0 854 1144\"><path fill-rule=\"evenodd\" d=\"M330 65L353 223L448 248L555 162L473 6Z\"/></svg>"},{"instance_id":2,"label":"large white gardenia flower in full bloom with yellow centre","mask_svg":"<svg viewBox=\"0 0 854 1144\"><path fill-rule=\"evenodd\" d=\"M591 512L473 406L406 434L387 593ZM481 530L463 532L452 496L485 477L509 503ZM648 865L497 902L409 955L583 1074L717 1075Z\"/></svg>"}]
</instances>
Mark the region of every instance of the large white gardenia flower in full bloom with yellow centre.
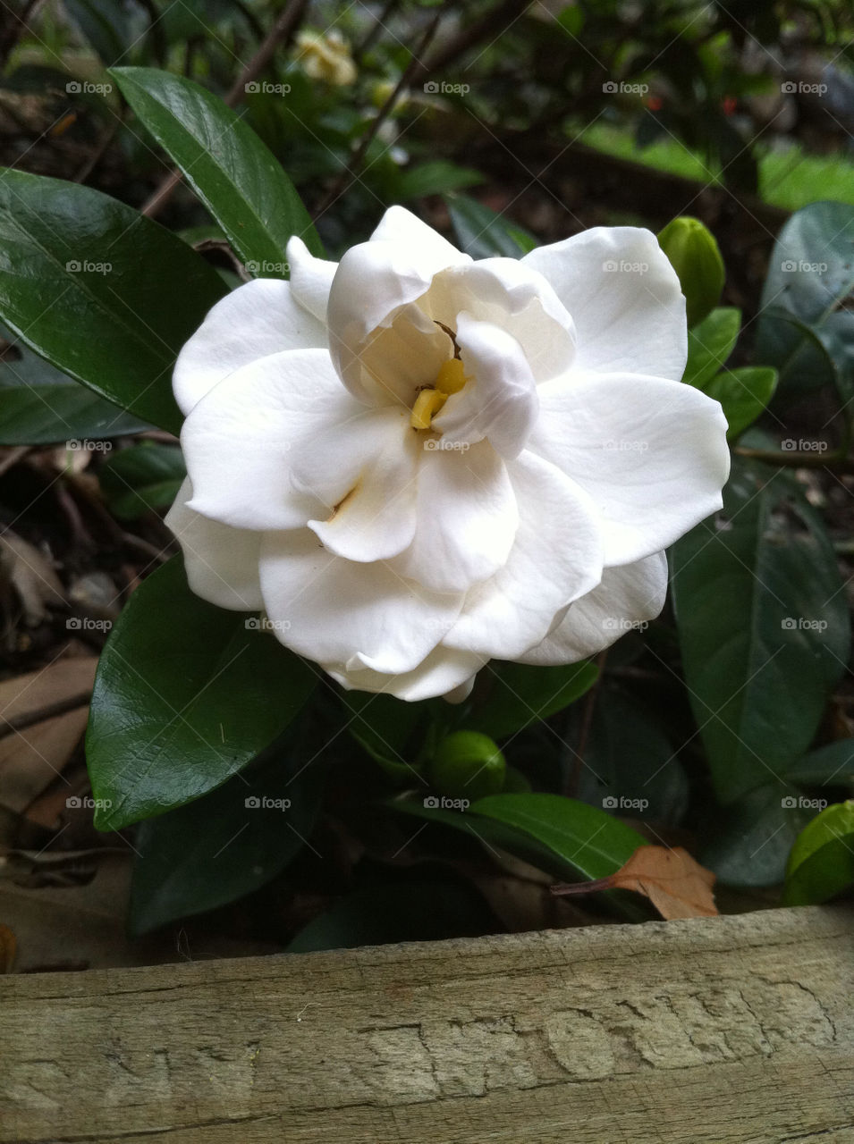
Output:
<instances>
[{"instance_id":1,"label":"large white gardenia flower in full bloom with yellow centre","mask_svg":"<svg viewBox=\"0 0 854 1144\"><path fill-rule=\"evenodd\" d=\"M721 507L729 459L720 405L680 381L654 235L474 262L392 207L340 263L298 238L287 260L175 366L189 476L167 522L195 593L411 700L658 614L664 549Z\"/></svg>"}]
</instances>

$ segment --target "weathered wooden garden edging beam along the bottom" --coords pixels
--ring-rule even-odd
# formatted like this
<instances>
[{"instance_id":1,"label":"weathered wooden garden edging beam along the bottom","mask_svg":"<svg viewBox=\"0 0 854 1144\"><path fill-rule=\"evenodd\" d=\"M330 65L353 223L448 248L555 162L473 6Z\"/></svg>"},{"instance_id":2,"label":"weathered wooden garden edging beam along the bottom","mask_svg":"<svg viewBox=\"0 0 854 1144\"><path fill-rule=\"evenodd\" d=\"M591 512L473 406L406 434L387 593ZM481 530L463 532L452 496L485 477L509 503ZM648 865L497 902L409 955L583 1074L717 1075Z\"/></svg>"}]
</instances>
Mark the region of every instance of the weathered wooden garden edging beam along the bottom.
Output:
<instances>
[{"instance_id":1,"label":"weathered wooden garden edging beam along the bottom","mask_svg":"<svg viewBox=\"0 0 854 1144\"><path fill-rule=\"evenodd\" d=\"M0 978L2 1144L851 1144L854 907Z\"/></svg>"}]
</instances>

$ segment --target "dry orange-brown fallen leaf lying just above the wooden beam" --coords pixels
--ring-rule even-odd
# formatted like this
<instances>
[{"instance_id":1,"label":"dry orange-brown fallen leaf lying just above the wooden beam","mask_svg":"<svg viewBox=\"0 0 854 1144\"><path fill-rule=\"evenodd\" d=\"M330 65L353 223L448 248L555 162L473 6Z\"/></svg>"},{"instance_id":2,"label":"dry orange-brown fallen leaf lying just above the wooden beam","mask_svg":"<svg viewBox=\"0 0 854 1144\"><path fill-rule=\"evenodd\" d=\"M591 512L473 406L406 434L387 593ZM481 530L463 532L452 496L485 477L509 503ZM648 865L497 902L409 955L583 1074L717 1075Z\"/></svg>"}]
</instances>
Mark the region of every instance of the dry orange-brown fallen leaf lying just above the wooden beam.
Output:
<instances>
[{"instance_id":1,"label":"dry orange-brown fallen leaf lying just above the wooden beam","mask_svg":"<svg viewBox=\"0 0 854 1144\"><path fill-rule=\"evenodd\" d=\"M553 885L552 893L592 893L594 890L633 890L642 893L667 921L717 915L714 874L682 847L638 847L628 861L594 882Z\"/></svg>"}]
</instances>

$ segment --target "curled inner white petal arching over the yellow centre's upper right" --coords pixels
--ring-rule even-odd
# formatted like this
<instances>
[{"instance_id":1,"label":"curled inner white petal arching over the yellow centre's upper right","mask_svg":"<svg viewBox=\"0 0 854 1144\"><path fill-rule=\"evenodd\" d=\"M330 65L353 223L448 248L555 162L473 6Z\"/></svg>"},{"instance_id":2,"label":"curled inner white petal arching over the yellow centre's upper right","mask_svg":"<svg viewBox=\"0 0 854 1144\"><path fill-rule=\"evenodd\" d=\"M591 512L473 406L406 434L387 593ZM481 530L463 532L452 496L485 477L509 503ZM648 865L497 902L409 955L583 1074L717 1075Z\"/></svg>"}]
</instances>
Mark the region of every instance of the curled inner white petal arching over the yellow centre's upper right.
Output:
<instances>
[{"instance_id":1,"label":"curled inner white petal arching over the yellow centre's upper right","mask_svg":"<svg viewBox=\"0 0 854 1144\"><path fill-rule=\"evenodd\" d=\"M482 259L437 275L422 303L454 328L466 311L500 326L522 347L537 382L566 373L575 360L576 333L549 283L516 259Z\"/></svg>"}]
</instances>

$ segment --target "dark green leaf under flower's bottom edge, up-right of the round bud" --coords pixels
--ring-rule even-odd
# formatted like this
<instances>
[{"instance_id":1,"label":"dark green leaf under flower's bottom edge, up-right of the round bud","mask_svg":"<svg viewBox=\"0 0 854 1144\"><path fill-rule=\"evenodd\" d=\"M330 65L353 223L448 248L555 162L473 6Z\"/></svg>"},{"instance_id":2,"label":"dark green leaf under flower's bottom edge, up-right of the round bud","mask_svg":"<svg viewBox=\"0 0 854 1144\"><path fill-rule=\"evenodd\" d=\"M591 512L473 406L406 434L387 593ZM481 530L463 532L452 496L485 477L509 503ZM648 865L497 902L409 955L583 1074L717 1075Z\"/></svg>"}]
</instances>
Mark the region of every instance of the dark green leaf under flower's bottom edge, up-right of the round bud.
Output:
<instances>
[{"instance_id":1,"label":"dark green leaf under flower's bottom edge, up-right of the round bud","mask_svg":"<svg viewBox=\"0 0 854 1144\"><path fill-rule=\"evenodd\" d=\"M504 739L563 710L593 686L596 675L596 666L587 661L562 667L493 661L482 676L483 698L476 694L462 723Z\"/></svg>"}]
</instances>

